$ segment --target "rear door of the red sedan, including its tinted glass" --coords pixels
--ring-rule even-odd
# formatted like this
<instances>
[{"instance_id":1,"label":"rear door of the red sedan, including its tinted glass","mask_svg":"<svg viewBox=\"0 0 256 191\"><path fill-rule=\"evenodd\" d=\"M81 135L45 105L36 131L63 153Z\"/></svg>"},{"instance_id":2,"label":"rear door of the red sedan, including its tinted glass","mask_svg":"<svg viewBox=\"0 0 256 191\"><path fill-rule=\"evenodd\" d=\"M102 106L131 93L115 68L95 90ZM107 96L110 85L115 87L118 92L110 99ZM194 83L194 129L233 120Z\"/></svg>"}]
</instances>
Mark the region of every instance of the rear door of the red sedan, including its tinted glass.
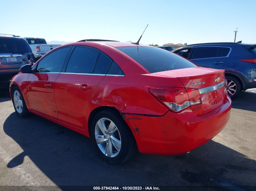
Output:
<instances>
[{"instance_id":1,"label":"rear door of the red sedan, including its tinted glass","mask_svg":"<svg viewBox=\"0 0 256 191\"><path fill-rule=\"evenodd\" d=\"M55 81L58 120L82 129L91 99L112 60L97 49L74 46Z\"/></svg>"}]
</instances>

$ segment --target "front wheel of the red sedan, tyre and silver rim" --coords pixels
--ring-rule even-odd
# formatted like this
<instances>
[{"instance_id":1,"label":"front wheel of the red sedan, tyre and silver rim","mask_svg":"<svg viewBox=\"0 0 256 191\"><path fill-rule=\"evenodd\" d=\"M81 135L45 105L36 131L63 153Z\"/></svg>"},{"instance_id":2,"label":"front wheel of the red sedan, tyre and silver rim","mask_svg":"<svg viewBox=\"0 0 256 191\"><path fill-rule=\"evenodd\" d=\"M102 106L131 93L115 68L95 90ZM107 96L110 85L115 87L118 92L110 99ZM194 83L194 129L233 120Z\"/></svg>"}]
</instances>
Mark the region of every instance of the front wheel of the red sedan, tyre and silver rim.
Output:
<instances>
[{"instance_id":1,"label":"front wheel of the red sedan, tyre and silver rim","mask_svg":"<svg viewBox=\"0 0 256 191\"><path fill-rule=\"evenodd\" d=\"M12 90L12 103L15 109L15 112L20 117L25 117L28 115L28 108L24 101L23 95L19 88L15 87Z\"/></svg>"}]
</instances>

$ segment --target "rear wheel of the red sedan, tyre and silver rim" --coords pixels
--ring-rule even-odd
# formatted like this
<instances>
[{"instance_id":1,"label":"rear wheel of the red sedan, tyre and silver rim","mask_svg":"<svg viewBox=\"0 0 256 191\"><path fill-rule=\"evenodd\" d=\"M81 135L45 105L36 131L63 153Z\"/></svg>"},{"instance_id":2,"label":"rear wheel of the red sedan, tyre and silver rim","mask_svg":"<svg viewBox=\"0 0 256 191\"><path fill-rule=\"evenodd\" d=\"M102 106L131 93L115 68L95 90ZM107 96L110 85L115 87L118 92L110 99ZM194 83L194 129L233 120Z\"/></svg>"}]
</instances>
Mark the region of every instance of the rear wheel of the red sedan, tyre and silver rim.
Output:
<instances>
[{"instance_id":1,"label":"rear wheel of the red sedan, tyre and silver rim","mask_svg":"<svg viewBox=\"0 0 256 191\"><path fill-rule=\"evenodd\" d=\"M96 150L110 164L129 160L136 148L129 126L118 114L103 110L96 114L91 124L91 138Z\"/></svg>"}]
</instances>

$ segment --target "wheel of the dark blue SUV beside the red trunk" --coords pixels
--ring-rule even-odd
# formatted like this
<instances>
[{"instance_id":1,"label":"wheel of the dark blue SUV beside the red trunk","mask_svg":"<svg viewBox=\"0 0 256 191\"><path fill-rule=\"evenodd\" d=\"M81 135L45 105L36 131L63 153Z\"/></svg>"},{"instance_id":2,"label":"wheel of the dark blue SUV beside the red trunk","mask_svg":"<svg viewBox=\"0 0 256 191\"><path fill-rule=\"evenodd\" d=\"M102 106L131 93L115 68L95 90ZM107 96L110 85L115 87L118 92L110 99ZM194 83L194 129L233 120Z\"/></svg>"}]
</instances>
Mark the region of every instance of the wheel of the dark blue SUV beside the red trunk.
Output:
<instances>
[{"instance_id":1,"label":"wheel of the dark blue SUV beside the red trunk","mask_svg":"<svg viewBox=\"0 0 256 191\"><path fill-rule=\"evenodd\" d=\"M236 97L240 91L241 91L241 84L237 80L237 78L234 78L232 76L226 76L226 82L227 82L227 93L231 98Z\"/></svg>"}]
</instances>

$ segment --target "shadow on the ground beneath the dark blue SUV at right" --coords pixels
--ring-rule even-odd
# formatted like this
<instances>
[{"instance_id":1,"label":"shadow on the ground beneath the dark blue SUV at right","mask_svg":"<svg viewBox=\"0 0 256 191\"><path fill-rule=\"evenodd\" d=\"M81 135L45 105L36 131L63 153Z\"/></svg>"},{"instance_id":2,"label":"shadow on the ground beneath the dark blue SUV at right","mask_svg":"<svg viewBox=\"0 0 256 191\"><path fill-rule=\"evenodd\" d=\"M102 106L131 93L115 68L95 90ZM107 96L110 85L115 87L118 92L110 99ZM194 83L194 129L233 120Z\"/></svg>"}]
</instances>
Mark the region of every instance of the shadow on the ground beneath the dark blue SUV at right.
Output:
<instances>
[{"instance_id":1,"label":"shadow on the ground beneath the dark blue SUV at right","mask_svg":"<svg viewBox=\"0 0 256 191\"><path fill-rule=\"evenodd\" d=\"M256 111L256 93L241 91L232 99L232 108Z\"/></svg>"}]
</instances>

